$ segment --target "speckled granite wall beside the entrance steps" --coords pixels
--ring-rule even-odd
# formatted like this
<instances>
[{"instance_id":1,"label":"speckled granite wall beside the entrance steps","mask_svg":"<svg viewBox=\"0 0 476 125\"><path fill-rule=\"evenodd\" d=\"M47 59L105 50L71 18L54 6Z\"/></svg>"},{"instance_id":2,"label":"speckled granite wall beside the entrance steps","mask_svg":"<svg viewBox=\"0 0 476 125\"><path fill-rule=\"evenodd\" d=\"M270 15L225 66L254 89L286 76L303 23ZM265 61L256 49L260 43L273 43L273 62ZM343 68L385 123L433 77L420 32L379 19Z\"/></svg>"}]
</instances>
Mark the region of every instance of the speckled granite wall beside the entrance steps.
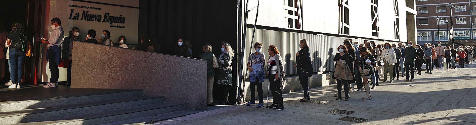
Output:
<instances>
[{"instance_id":1,"label":"speckled granite wall beside the entrance steps","mask_svg":"<svg viewBox=\"0 0 476 125\"><path fill-rule=\"evenodd\" d=\"M206 109L207 61L73 42L71 87L143 89L145 96Z\"/></svg>"}]
</instances>

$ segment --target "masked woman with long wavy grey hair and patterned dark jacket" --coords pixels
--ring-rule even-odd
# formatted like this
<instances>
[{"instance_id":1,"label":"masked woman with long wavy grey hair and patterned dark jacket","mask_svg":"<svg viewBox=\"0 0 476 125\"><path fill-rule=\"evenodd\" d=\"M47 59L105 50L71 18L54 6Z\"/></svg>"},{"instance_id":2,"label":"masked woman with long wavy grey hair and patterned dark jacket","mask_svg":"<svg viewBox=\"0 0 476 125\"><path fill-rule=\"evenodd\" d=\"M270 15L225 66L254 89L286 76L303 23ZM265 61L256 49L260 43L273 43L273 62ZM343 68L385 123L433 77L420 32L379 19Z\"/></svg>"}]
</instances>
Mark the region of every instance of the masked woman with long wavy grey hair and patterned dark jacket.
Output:
<instances>
[{"instance_id":1,"label":"masked woman with long wavy grey hair and patterned dark jacket","mask_svg":"<svg viewBox=\"0 0 476 125\"><path fill-rule=\"evenodd\" d=\"M188 51L187 49L184 49ZM217 58L218 61L218 84L217 84L217 93L218 93L218 104L219 105L228 105L228 94L229 88L232 83L232 69L231 61L235 54L228 42L221 42L221 55Z\"/></svg>"}]
</instances>

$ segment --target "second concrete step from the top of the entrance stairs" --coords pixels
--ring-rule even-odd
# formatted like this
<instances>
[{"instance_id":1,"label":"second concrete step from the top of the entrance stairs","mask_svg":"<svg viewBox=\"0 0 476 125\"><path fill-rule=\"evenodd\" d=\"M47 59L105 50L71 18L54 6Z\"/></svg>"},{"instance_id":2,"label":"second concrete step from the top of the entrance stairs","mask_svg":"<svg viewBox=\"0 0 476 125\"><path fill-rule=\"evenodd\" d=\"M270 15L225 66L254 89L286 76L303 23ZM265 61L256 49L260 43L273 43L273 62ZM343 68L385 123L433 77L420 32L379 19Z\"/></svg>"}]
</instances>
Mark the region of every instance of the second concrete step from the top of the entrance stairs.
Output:
<instances>
[{"instance_id":1,"label":"second concrete step from the top of the entrance stairs","mask_svg":"<svg viewBox=\"0 0 476 125\"><path fill-rule=\"evenodd\" d=\"M79 115L84 113L99 112L126 108L131 106L140 106L148 104L163 103L162 96L137 96L129 98L109 99L96 102L84 102L50 108L23 109L10 112L0 112L0 125L10 125L38 121L44 117L61 117L69 115Z\"/></svg>"}]
</instances>

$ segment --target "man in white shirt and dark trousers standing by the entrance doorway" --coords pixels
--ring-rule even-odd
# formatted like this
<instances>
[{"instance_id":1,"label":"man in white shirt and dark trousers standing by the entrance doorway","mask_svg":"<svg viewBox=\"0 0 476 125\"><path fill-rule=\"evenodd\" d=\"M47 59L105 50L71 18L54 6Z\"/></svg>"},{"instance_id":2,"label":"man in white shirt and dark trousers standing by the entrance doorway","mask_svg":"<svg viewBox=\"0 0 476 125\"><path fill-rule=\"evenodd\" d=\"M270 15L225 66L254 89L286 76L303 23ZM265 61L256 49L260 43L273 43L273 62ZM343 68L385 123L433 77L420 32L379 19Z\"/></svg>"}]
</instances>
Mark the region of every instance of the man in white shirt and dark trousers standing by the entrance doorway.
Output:
<instances>
[{"instance_id":1,"label":"man in white shirt and dark trousers standing by the entrance doorway","mask_svg":"<svg viewBox=\"0 0 476 125\"><path fill-rule=\"evenodd\" d=\"M47 44L48 50L46 52L47 61L49 61L51 78L50 82L46 84L45 88L58 87L58 78L60 73L58 65L60 65L61 57L61 43L63 43L64 31L61 27L61 20L59 18L51 19L51 28L54 31L50 35L50 39L43 38L41 43Z\"/></svg>"}]
</instances>

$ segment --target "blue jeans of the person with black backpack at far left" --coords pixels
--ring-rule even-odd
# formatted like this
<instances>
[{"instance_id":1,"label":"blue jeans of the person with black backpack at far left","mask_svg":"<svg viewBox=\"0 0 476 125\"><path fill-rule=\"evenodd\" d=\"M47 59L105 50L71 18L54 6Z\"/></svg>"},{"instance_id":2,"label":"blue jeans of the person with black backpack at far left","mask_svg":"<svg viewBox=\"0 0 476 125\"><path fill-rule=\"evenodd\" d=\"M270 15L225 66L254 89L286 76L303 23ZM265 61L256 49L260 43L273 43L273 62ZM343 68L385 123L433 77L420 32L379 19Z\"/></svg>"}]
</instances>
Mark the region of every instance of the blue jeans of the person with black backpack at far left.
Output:
<instances>
[{"instance_id":1,"label":"blue jeans of the person with black backpack at far left","mask_svg":"<svg viewBox=\"0 0 476 125\"><path fill-rule=\"evenodd\" d=\"M17 51L17 50L12 50ZM21 52L21 51L18 51ZM23 52L25 53L25 52ZM23 77L23 61L25 60L25 56L17 56L9 53L10 57L10 77L12 83L20 83L21 78Z\"/></svg>"}]
</instances>

